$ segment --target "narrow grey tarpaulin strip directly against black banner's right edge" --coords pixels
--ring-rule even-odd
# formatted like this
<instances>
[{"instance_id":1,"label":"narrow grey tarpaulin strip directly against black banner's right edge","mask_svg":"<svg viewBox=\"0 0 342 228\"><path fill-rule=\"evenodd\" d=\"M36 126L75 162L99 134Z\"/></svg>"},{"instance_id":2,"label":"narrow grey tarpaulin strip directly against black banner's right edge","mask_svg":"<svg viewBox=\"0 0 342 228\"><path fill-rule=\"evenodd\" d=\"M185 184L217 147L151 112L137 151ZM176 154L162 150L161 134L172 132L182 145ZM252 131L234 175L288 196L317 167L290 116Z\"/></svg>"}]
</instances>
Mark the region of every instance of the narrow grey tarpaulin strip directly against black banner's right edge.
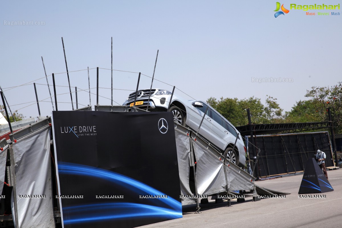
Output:
<instances>
[{"instance_id":1,"label":"narrow grey tarpaulin strip directly against black banner's right edge","mask_svg":"<svg viewBox=\"0 0 342 228\"><path fill-rule=\"evenodd\" d=\"M190 172L190 138L185 133L175 129L177 160L179 169L179 179L181 184L181 195L195 195L189 187ZM195 203L195 199L182 198L182 205Z\"/></svg>"}]
</instances>

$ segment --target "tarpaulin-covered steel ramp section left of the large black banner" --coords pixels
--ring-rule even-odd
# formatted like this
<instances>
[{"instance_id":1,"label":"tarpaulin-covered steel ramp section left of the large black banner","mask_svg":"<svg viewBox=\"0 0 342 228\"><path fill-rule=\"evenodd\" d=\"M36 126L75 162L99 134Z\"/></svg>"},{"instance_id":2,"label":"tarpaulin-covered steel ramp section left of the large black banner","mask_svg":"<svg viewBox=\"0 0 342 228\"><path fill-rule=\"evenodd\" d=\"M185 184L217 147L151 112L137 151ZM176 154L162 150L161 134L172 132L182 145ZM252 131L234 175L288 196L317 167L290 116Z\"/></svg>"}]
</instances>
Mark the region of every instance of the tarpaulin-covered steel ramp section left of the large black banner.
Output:
<instances>
[{"instance_id":1,"label":"tarpaulin-covered steel ramp section left of the large black banner","mask_svg":"<svg viewBox=\"0 0 342 228\"><path fill-rule=\"evenodd\" d=\"M54 212L52 200L45 200L53 199L50 130L51 118L42 118L11 133L8 142L1 140L0 179L5 180L6 188L2 192L10 201L11 195L15 196L12 215L5 215L10 210L6 210L5 203L1 205L1 210L6 210L0 216L1 227L55 227L58 213Z\"/></svg>"}]
</instances>

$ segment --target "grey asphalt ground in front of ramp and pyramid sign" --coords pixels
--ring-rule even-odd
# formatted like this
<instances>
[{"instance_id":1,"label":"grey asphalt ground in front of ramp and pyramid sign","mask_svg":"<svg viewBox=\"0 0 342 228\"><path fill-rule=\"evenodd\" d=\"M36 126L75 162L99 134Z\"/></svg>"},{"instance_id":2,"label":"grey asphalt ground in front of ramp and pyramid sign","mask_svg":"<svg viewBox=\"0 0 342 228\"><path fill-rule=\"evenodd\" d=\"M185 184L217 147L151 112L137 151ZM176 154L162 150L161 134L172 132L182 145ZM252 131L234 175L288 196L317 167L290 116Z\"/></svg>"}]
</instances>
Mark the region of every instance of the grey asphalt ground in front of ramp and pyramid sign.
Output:
<instances>
[{"instance_id":1,"label":"grey asphalt ground in front of ramp and pyramid sign","mask_svg":"<svg viewBox=\"0 0 342 228\"><path fill-rule=\"evenodd\" d=\"M183 206L183 218L141 226L141 228L177 227L342 227L342 169L329 170L328 177L334 191L305 195L326 195L326 198L298 198L303 175L259 180L255 184L281 192L291 193L286 198L268 198L253 202L227 201L200 204L200 214L195 214L196 204ZM301 195L302 196L302 195Z\"/></svg>"}]
</instances>

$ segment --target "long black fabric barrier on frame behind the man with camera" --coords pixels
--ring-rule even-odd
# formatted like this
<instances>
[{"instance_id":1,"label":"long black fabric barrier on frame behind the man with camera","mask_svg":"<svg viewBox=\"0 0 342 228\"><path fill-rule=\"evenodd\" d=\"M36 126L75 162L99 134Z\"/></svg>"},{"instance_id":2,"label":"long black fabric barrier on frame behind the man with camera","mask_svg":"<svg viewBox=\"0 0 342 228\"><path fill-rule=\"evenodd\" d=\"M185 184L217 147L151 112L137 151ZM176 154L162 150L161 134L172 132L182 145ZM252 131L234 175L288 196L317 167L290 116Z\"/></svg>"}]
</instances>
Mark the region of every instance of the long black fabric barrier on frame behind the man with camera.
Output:
<instances>
[{"instance_id":1,"label":"long black fabric barrier on frame behind the man with camera","mask_svg":"<svg viewBox=\"0 0 342 228\"><path fill-rule=\"evenodd\" d=\"M261 177L303 171L318 149L326 153L326 165L333 166L328 132L257 136L256 145Z\"/></svg>"}]
</instances>

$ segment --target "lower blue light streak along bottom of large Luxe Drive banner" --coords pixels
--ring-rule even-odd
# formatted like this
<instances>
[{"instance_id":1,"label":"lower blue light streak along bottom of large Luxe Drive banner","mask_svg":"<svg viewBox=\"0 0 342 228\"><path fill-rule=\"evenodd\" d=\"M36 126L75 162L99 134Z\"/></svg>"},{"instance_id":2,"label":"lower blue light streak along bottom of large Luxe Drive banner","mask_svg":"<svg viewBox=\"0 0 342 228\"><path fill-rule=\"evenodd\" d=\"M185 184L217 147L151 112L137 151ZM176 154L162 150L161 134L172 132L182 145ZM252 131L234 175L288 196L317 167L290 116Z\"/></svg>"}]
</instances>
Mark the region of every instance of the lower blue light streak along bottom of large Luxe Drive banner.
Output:
<instances>
[{"instance_id":1,"label":"lower blue light streak along bottom of large Luxe Drive banner","mask_svg":"<svg viewBox=\"0 0 342 228\"><path fill-rule=\"evenodd\" d=\"M98 222L99 220L118 220L126 218L181 218L182 212L163 207L137 203L102 203L63 207L63 212L71 214L64 225ZM75 215L73 215L75 214Z\"/></svg>"}]
</instances>

